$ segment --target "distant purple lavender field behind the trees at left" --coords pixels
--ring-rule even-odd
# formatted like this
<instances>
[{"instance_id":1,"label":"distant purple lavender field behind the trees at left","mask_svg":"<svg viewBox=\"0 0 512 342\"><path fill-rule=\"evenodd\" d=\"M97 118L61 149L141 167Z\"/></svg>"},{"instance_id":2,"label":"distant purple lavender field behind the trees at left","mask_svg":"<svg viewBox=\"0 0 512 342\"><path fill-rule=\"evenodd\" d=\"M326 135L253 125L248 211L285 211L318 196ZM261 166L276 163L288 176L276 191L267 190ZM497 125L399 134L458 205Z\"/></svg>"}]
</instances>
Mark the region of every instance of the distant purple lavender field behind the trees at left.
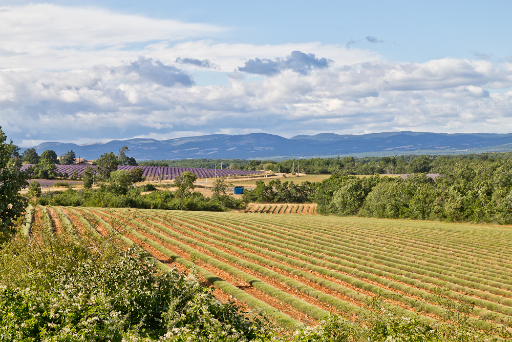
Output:
<instances>
[{"instance_id":1,"label":"distant purple lavender field behind the trees at left","mask_svg":"<svg viewBox=\"0 0 512 342\"><path fill-rule=\"evenodd\" d=\"M24 164L22 170L25 171L29 168L29 164ZM74 172L80 177L83 175L83 171L87 168L84 165L56 165L57 172L61 174L68 174L71 176ZM96 168L92 166L92 168ZM132 170L134 168L142 168L144 170L143 175L147 180L166 180L175 179L185 171L194 173L198 178L213 178L215 177L215 169L200 169L200 168L175 168L175 167L164 167L164 166L119 166L118 170ZM229 177L229 176L244 176L249 174L257 174L261 171L246 171L246 170L217 170L217 177Z\"/></svg>"}]
</instances>

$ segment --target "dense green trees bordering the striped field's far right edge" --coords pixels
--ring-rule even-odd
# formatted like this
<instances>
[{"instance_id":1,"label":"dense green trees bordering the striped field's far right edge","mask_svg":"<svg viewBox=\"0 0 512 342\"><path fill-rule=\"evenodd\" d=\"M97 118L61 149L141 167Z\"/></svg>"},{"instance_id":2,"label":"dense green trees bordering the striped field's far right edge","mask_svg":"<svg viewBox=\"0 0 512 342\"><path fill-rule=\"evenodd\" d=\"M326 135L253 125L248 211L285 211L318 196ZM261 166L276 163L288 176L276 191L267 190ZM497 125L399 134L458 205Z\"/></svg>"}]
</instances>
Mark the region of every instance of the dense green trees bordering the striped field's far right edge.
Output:
<instances>
[{"instance_id":1,"label":"dense green trees bordering the striped field's far right edge","mask_svg":"<svg viewBox=\"0 0 512 342\"><path fill-rule=\"evenodd\" d=\"M430 163L430 170L440 174L436 178L425 172L407 179L335 172L321 183L259 182L243 198L258 203L313 202L321 214L512 223L512 158L507 154L443 156Z\"/></svg>"}]
</instances>

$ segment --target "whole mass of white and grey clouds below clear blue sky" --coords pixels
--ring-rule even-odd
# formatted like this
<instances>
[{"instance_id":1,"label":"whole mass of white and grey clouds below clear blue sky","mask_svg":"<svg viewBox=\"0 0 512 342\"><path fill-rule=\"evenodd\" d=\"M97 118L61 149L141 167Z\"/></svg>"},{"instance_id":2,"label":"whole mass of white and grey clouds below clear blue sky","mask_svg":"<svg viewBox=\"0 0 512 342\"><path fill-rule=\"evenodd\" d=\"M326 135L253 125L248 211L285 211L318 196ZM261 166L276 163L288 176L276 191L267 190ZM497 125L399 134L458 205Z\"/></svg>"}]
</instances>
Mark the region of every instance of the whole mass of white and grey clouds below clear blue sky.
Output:
<instances>
[{"instance_id":1,"label":"whole mass of white and grey clouds below clear blue sky","mask_svg":"<svg viewBox=\"0 0 512 342\"><path fill-rule=\"evenodd\" d=\"M512 132L512 58L398 63L319 42L213 44L205 35L227 29L91 8L0 10L0 126L22 146L245 132ZM113 24L100 29L106 18ZM226 81L199 86L201 73Z\"/></svg>"}]
</instances>

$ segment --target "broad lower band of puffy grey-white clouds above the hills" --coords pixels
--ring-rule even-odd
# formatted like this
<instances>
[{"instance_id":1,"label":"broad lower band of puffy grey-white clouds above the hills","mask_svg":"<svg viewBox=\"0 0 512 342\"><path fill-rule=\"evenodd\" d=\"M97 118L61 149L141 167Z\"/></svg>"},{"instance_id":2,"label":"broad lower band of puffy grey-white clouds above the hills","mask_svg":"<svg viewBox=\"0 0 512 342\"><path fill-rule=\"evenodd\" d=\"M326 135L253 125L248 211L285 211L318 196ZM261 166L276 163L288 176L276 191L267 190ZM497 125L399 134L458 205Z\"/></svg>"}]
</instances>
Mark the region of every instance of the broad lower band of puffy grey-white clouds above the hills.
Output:
<instances>
[{"instance_id":1,"label":"broad lower band of puffy grey-white clouds above the hills","mask_svg":"<svg viewBox=\"0 0 512 342\"><path fill-rule=\"evenodd\" d=\"M61 72L0 70L0 126L15 142L255 128L284 136L512 130L512 92L488 90L512 86L512 70L488 61L378 61L314 73L290 67L258 79L238 75L228 85L191 86L187 74L150 58Z\"/></svg>"}]
</instances>

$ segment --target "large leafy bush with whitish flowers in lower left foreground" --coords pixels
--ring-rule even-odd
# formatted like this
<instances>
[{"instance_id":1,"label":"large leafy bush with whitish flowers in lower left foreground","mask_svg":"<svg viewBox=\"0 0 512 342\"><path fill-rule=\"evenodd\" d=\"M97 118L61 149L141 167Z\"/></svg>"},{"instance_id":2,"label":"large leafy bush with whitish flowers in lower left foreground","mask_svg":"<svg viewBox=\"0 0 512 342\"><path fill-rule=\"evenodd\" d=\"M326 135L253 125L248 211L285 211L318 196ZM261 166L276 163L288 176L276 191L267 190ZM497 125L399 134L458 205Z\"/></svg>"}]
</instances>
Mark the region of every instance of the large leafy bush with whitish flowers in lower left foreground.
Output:
<instances>
[{"instance_id":1,"label":"large leafy bush with whitish flowers in lower left foreground","mask_svg":"<svg viewBox=\"0 0 512 342\"><path fill-rule=\"evenodd\" d=\"M96 246L94 247L91 243ZM93 238L17 236L0 250L0 340L248 341L261 327L193 274L159 274L135 250ZM181 337L180 337L181 336Z\"/></svg>"}]
</instances>

